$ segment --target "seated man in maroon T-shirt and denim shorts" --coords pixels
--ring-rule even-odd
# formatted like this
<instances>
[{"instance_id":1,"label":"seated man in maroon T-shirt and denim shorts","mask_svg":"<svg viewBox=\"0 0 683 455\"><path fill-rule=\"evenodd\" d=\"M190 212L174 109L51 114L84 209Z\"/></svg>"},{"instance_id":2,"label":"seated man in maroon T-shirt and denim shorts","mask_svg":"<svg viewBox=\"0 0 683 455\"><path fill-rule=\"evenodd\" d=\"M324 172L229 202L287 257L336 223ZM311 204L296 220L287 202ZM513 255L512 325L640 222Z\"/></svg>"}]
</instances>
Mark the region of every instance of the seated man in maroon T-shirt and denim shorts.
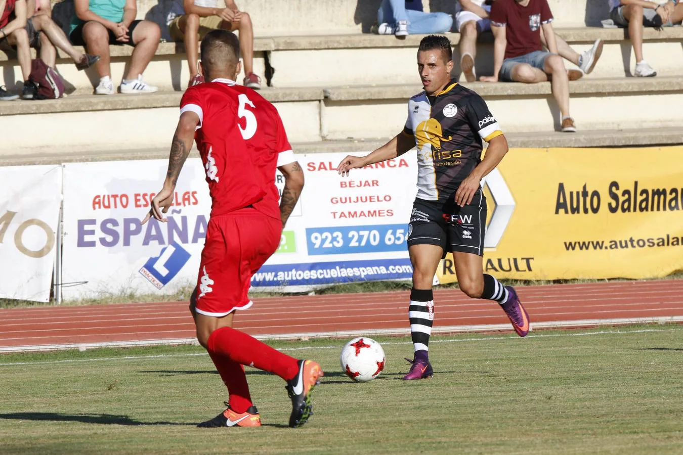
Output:
<instances>
[{"instance_id":1,"label":"seated man in maroon T-shirt and denim shorts","mask_svg":"<svg viewBox=\"0 0 683 455\"><path fill-rule=\"evenodd\" d=\"M557 55L548 1L496 0L490 20L494 36L493 76L481 80L538 83L550 79L561 113L561 130L576 132L569 114L569 78L562 57ZM541 28L550 52L542 50Z\"/></svg>"}]
</instances>

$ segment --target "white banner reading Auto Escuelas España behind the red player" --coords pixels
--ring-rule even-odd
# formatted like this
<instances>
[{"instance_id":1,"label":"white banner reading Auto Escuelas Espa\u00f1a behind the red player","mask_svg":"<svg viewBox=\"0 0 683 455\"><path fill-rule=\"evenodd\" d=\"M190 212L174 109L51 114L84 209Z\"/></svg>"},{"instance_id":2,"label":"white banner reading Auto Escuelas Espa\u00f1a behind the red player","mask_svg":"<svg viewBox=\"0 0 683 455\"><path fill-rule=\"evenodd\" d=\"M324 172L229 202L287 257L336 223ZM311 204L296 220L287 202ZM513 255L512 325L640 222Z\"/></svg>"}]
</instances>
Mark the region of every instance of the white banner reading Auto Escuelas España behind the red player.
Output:
<instances>
[{"instance_id":1,"label":"white banner reading Auto Escuelas Espa\u00f1a behind the red player","mask_svg":"<svg viewBox=\"0 0 683 455\"><path fill-rule=\"evenodd\" d=\"M299 155L303 194L253 287L303 291L410 278L414 155L354 169L349 177L335 170L345 153ZM198 158L180 173L169 222L140 222L166 169L167 160L64 165L64 299L172 293L196 282L210 212ZM282 190L281 175L276 184Z\"/></svg>"}]
</instances>

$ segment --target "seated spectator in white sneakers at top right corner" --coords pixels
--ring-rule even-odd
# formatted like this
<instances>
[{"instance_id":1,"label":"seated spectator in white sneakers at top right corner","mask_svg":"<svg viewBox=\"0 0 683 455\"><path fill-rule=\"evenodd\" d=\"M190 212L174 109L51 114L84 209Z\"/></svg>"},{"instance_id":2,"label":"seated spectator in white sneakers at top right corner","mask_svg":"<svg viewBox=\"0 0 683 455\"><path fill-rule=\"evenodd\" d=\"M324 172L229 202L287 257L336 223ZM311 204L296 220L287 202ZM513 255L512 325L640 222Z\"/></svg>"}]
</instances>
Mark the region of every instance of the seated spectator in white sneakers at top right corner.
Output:
<instances>
[{"instance_id":1,"label":"seated spectator in white sneakers at top right corner","mask_svg":"<svg viewBox=\"0 0 683 455\"><path fill-rule=\"evenodd\" d=\"M645 0L609 0L609 16L613 22L628 27L636 56L636 77L653 77L657 72L643 59L643 27L665 27L680 22L683 7L678 0L659 4ZM677 11L678 10L678 11Z\"/></svg>"}]
</instances>

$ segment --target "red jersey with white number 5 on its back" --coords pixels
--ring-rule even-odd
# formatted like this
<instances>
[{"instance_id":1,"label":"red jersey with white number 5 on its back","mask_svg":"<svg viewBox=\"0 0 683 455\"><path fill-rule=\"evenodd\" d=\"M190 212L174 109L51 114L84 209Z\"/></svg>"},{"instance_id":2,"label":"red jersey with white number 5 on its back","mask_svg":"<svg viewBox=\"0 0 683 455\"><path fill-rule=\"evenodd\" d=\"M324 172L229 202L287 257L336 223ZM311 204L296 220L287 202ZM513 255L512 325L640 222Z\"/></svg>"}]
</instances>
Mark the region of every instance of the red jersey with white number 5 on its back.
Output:
<instances>
[{"instance_id":1,"label":"red jersey with white number 5 on its back","mask_svg":"<svg viewBox=\"0 0 683 455\"><path fill-rule=\"evenodd\" d=\"M275 106L252 89L216 79L185 91L180 113L186 111L199 115L195 141L211 216L252 205L279 220L275 170L293 162L294 155Z\"/></svg>"}]
</instances>

